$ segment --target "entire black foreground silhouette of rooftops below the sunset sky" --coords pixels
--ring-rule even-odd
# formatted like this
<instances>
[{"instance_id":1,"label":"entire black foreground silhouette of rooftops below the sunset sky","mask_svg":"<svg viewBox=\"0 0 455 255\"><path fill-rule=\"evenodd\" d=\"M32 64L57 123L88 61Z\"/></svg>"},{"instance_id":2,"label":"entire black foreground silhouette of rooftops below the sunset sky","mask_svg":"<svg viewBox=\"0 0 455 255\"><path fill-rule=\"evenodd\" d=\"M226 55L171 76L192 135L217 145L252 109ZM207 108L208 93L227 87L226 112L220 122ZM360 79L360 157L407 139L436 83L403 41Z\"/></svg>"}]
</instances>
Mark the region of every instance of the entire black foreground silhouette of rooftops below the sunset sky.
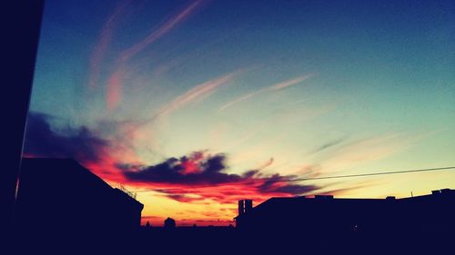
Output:
<instances>
[{"instance_id":1,"label":"entire black foreground silhouette of rooftops below the sunset sky","mask_svg":"<svg viewBox=\"0 0 455 255\"><path fill-rule=\"evenodd\" d=\"M143 205L71 160L25 159L9 244L19 254L455 254L455 191L395 199L238 202L234 227L140 227Z\"/></svg>"}]
</instances>

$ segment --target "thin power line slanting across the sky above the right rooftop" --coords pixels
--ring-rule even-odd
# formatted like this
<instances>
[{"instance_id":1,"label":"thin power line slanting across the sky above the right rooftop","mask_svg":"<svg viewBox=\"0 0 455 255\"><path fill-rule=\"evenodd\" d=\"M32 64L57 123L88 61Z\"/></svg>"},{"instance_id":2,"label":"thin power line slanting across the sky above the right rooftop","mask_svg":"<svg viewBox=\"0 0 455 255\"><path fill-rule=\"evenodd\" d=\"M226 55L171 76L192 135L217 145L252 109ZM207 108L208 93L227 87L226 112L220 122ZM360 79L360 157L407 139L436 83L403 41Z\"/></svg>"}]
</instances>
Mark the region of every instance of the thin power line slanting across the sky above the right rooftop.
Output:
<instances>
[{"instance_id":1,"label":"thin power line slanting across the sky above the right rooftop","mask_svg":"<svg viewBox=\"0 0 455 255\"><path fill-rule=\"evenodd\" d=\"M358 174L344 174L344 175L332 175L332 176L321 176L321 177L308 177L308 178L296 178L296 179L287 179L287 180L262 180L262 181L248 181L248 182L229 182L229 183L217 183L211 185L193 185L188 188L210 188L218 186L230 186L230 185L253 185L253 184L262 184L262 183L275 183L275 182L291 182L291 181L313 181L313 180L326 180L326 179L341 179L341 178L354 178L354 177L365 177L365 176L375 176L375 175L388 175L388 174L399 174L399 173L412 173L412 172L433 172L441 170L450 170L455 169L455 166L447 167L438 167L438 168L424 168L424 169L414 169L414 170L404 170L404 171L392 171L392 172L369 172L369 173L358 173ZM153 190L143 190L143 191L133 191L133 192L150 192L150 191L178 191L181 188L170 188L170 189L153 189Z\"/></svg>"}]
</instances>

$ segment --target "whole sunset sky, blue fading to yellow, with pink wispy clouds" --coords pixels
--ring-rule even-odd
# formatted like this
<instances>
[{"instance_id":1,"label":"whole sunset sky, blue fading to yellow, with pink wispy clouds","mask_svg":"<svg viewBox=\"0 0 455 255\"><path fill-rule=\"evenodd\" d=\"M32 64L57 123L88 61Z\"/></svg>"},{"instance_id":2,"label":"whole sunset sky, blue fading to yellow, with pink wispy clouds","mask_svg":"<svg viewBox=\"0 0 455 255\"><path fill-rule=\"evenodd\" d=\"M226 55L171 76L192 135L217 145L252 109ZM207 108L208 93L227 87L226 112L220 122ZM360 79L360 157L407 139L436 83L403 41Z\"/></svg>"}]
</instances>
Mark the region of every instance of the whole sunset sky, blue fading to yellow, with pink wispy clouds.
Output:
<instances>
[{"instance_id":1,"label":"whole sunset sky, blue fading to yellow, with pink wispy clouds","mask_svg":"<svg viewBox=\"0 0 455 255\"><path fill-rule=\"evenodd\" d=\"M45 3L24 155L136 191L142 222L237 201L455 188L453 1Z\"/></svg>"}]
</instances>

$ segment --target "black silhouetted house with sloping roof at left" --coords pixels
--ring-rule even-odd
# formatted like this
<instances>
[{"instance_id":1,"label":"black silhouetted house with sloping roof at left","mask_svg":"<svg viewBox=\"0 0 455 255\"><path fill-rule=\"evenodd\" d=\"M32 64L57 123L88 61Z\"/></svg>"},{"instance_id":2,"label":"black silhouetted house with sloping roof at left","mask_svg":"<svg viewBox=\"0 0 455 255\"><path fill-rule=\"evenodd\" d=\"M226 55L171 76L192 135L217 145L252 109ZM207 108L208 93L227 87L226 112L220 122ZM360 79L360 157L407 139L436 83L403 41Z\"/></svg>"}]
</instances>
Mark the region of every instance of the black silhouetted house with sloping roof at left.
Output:
<instances>
[{"instance_id":1,"label":"black silhouetted house with sloping roof at left","mask_svg":"<svg viewBox=\"0 0 455 255\"><path fill-rule=\"evenodd\" d=\"M18 230L135 230L143 207L74 160L23 159L15 213Z\"/></svg>"}]
</instances>

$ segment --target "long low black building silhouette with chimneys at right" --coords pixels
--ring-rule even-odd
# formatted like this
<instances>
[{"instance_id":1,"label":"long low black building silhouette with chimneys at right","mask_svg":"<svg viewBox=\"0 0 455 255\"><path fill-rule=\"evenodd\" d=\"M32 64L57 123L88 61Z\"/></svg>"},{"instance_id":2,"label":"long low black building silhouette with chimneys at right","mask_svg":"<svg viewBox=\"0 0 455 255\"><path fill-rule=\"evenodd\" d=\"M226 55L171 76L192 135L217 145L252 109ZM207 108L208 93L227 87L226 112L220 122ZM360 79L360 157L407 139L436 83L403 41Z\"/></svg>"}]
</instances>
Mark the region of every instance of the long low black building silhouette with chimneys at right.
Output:
<instances>
[{"instance_id":1,"label":"long low black building silhouette with chimneys at right","mask_svg":"<svg viewBox=\"0 0 455 255\"><path fill-rule=\"evenodd\" d=\"M272 243L349 249L430 243L437 248L447 247L455 229L455 191L450 189L403 199L271 198L248 210L246 203L238 203L238 233Z\"/></svg>"}]
</instances>

